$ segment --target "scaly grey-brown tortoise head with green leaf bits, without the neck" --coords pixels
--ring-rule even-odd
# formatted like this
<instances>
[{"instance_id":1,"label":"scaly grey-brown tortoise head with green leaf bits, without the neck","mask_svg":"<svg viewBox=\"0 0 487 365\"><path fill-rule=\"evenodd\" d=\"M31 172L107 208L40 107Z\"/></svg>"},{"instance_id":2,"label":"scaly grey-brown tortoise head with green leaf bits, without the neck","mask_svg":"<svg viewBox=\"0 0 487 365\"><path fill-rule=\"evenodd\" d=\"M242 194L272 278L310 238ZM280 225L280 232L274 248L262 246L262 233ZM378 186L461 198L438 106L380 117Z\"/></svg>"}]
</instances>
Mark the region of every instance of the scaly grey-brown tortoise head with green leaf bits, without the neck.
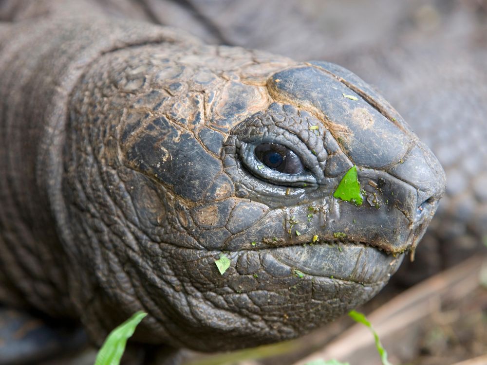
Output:
<instances>
[{"instance_id":1,"label":"scaly grey-brown tortoise head with green leaf bits, without the neck","mask_svg":"<svg viewBox=\"0 0 487 365\"><path fill-rule=\"evenodd\" d=\"M337 65L177 47L106 54L73 93L65 246L85 326L102 338L146 310L139 341L228 349L370 299L443 194L431 151Z\"/></svg>"}]
</instances>

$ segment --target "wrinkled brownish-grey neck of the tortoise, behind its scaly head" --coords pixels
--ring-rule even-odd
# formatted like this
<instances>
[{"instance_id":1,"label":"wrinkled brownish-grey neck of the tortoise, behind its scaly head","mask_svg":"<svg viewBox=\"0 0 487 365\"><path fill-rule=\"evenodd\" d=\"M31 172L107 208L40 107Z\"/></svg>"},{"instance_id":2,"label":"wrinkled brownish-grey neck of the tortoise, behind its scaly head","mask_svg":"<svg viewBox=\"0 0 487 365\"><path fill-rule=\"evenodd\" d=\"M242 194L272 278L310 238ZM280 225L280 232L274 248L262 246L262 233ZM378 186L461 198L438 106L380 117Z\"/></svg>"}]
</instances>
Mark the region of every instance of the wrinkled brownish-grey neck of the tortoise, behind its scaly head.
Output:
<instances>
[{"instance_id":1,"label":"wrinkled brownish-grey neck of the tortoise, behind its scaly head","mask_svg":"<svg viewBox=\"0 0 487 365\"><path fill-rule=\"evenodd\" d=\"M0 286L12 290L0 293L0 302L69 313L70 262L63 247L70 228L61 181L71 91L100 55L179 36L81 14L39 16L1 29Z\"/></svg>"}]
</instances>

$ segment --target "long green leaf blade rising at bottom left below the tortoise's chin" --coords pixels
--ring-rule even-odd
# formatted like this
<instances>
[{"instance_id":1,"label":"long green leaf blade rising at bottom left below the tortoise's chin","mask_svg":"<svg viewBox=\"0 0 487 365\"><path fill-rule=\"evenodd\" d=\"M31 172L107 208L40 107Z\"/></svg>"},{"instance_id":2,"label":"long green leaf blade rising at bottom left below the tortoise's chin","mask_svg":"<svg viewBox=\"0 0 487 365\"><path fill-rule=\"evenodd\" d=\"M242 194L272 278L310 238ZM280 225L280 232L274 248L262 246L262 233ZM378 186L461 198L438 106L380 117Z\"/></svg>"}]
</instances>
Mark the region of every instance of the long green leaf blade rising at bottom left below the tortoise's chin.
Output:
<instances>
[{"instance_id":1,"label":"long green leaf blade rising at bottom left below the tortoise's chin","mask_svg":"<svg viewBox=\"0 0 487 365\"><path fill-rule=\"evenodd\" d=\"M108 335L105 343L98 351L94 365L118 365L125 351L127 340L147 313L139 311L122 323Z\"/></svg>"}]
</instances>

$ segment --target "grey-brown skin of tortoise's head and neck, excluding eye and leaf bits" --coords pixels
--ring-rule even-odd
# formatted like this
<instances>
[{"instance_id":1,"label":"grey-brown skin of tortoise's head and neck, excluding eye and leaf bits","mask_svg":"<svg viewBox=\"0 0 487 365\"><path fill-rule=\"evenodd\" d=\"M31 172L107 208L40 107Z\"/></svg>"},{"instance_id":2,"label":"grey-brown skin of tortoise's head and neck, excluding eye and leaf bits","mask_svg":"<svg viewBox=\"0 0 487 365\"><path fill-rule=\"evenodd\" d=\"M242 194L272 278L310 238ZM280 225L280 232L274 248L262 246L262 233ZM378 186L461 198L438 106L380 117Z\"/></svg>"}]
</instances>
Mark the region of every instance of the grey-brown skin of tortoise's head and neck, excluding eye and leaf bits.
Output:
<instances>
[{"instance_id":1,"label":"grey-brown skin of tortoise's head and neck, excluding eye and leaf bits","mask_svg":"<svg viewBox=\"0 0 487 365\"><path fill-rule=\"evenodd\" d=\"M364 303L415 249L443 169L355 74L46 3L0 28L0 303L98 345L144 310L140 347L235 349ZM360 206L333 197L354 165Z\"/></svg>"}]
</instances>

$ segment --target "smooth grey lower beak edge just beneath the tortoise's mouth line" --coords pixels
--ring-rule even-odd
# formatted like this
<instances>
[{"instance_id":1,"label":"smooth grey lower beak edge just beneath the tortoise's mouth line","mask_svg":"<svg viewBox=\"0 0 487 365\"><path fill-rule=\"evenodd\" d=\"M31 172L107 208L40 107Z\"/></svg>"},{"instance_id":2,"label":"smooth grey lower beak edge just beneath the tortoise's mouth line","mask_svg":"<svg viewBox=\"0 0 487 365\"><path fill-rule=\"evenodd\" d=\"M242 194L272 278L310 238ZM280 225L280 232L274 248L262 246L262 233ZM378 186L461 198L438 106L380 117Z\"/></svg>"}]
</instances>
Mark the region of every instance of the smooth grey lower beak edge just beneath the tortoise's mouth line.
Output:
<instances>
[{"instance_id":1,"label":"smooth grey lower beak edge just beneath the tortoise's mouth line","mask_svg":"<svg viewBox=\"0 0 487 365\"><path fill-rule=\"evenodd\" d=\"M264 251L264 256L272 257L272 265L266 267L271 274L291 268L297 275L329 277L364 285L387 282L404 258L402 254L388 255L367 244L318 243ZM269 261L270 257L263 257L262 261Z\"/></svg>"}]
</instances>

